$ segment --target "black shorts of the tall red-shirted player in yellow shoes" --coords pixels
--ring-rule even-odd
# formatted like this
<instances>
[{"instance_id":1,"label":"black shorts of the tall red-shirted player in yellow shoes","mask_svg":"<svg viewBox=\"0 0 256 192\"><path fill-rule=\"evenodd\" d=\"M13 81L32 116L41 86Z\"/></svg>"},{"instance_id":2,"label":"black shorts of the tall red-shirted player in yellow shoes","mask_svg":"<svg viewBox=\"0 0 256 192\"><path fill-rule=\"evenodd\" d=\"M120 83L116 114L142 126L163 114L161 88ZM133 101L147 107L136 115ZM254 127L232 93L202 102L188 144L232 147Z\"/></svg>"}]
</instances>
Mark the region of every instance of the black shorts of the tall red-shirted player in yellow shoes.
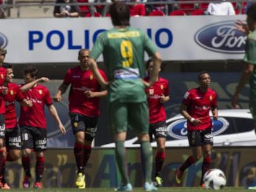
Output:
<instances>
[{"instance_id":1,"label":"black shorts of the tall red-shirted player in yellow shoes","mask_svg":"<svg viewBox=\"0 0 256 192\"><path fill-rule=\"evenodd\" d=\"M70 121L72 125L73 133L78 133L79 131L85 132L85 140L92 141L95 138L98 117L88 117L80 114L69 114Z\"/></svg>"}]
</instances>

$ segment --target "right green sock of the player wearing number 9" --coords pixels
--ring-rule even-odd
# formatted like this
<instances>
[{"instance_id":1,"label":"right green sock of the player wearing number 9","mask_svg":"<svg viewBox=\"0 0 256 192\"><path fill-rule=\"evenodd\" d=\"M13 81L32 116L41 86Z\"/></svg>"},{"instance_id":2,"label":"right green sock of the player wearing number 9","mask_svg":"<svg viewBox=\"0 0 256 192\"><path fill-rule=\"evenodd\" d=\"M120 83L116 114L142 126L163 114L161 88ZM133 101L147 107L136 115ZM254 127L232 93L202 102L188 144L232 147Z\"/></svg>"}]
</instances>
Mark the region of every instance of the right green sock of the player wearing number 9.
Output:
<instances>
[{"instance_id":1,"label":"right green sock of the player wearing number 9","mask_svg":"<svg viewBox=\"0 0 256 192\"><path fill-rule=\"evenodd\" d=\"M142 169L145 182L151 183L153 154L150 141L143 141L140 144L140 158L142 159Z\"/></svg>"}]
</instances>

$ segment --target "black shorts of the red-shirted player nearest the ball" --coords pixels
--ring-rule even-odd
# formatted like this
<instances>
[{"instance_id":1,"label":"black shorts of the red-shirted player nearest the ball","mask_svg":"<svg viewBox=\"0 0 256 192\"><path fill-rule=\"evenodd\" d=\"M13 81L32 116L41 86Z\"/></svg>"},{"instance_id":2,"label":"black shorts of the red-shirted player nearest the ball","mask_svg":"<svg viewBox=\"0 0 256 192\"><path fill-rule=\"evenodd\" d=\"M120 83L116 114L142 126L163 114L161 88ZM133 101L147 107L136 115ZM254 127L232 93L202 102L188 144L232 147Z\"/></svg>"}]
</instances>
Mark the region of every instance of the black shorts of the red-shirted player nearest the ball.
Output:
<instances>
[{"instance_id":1,"label":"black shorts of the red-shirted player nearest the ball","mask_svg":"<svg viewBox=\"0 0 256 192\"><path fill-rule=\"evenodd\" d=\"M190 147L203 146L205 144L213 145L213 134L211 128L199 131L187 131Z\"/></svg>"}]
</instances>

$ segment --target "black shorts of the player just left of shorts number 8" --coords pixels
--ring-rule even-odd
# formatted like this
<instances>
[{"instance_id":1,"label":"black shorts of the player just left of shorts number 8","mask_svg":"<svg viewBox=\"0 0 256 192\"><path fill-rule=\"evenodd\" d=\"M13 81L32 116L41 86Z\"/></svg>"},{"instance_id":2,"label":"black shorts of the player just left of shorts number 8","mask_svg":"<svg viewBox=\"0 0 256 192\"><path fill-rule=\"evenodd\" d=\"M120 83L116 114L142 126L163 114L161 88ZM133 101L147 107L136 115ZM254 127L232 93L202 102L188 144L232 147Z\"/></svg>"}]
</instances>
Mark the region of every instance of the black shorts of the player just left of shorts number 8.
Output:
<instances>
[{"instance_id":1,"label":"black shorts of the player just left of shorts number 8","mask_svg":"<svg viewBox=\"0 0 256 192\"><path fill-rule=\"evenodd\" d=\"M21 149L20 128L6 128L6 148Z\"/></svg>"}]
</instances>

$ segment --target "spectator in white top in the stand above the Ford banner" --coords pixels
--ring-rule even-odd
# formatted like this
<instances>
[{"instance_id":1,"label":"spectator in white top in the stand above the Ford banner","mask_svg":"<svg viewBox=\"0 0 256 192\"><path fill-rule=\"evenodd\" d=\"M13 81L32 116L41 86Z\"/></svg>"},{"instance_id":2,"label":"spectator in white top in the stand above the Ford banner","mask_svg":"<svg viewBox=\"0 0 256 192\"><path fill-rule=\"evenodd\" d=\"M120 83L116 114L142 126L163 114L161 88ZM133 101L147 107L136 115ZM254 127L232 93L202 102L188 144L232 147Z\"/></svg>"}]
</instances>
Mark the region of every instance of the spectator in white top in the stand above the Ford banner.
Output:
<instances>
[{"instance_id":1,"label":"spectator in white top in the stand above the Ford banner","mask_svg":"<svg viewBox=\"0 0 256 192\"><path fill-rule=\"evenodd\" d=\"M208 4L206 15L235 15L234 6L231 2L226 2L226 0L210 2Z\"/></svg>"}]
</instances>

